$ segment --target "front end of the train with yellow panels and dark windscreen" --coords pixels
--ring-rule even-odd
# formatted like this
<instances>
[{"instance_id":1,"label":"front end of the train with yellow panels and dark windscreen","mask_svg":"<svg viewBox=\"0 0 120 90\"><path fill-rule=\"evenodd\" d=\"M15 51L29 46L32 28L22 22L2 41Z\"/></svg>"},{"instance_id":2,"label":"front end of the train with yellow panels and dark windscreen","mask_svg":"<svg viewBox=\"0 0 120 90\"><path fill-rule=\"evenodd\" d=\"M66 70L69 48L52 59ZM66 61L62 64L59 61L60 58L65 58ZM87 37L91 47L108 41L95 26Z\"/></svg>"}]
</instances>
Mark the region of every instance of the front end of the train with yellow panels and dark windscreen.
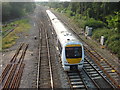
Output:
<instances>
[{"instance_id":1,"label":"front end of the train with yellow panels and dark windscreen","mask_svg":"<svg viewBox=\"0 0 120 90\"><path fill-rule=\"evenodd\" d=\"M62 64L64 71L76 70L79 71L84 63L84 50L80 44L66 45L62 52Z\"/></svg>"}]
</instances>

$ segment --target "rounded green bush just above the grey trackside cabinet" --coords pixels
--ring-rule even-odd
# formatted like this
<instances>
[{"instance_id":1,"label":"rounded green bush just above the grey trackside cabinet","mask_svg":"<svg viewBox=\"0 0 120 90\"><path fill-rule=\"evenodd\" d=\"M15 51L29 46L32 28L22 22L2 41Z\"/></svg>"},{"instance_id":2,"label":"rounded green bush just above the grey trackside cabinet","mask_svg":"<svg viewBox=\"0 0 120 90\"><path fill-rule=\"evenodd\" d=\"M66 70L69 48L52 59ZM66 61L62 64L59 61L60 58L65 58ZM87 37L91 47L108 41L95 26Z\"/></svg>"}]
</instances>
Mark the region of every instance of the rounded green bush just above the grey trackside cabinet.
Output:
<instances>
[{"instance_id":1,"label":"rounded green bush just above the grey trackside cabinet","mask_svg":"<svg viewBox=\"0 0 120 90\"><path fill-rule=\"evenodd\" d=\"M86 21L84 27L86 27L86 26L89 26L89 27L92 27L93 29L96 29L96 28L103 28L106 25L102 21L97 21L97 20L91 18L91 19L88 19Z\"/></svg>"}]
</instances>

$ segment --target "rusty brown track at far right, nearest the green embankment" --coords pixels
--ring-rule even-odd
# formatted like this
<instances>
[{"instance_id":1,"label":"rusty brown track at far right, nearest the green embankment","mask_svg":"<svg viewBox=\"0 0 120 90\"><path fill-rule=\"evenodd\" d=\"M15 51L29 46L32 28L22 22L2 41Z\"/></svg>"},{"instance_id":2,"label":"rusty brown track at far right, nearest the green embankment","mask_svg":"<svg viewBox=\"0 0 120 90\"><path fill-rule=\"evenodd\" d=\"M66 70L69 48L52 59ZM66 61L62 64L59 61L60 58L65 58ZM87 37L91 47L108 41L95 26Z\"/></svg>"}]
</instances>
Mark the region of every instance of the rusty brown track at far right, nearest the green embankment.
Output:
<instances>
[{"instance_id":1,"label":"rusty brown track at far right, nearest the green embankment","mask_svg":"<svg viewBox=\"0 0 120 90\"><path fill-rule=\"evenodd\" d=\"M71 28L70 25L61 20L66 26L70 28L70 30L84 43L84 48L86 51L86 55L92 58L92 60L99 66L99 68L105 73L115 88L120 88L120 72L115 69L105 58L103 58L91 45L88 45L79 35L77 32Z\"/></svg>"}]
</instances>

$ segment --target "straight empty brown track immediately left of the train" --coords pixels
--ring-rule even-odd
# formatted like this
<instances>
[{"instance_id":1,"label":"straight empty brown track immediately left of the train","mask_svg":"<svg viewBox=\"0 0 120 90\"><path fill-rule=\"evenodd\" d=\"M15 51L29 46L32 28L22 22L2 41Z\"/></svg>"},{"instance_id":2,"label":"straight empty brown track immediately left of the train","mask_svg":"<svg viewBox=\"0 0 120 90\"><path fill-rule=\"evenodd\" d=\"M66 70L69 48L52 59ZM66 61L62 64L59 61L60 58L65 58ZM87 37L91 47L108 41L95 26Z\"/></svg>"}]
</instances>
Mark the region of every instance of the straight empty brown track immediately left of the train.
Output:
<instances>
[{"instance_id":1,"label":"straight empty brown track immediately left of the train","mask_svg":"<svg viewBox=\"0 0 120 90\"><path fill-rule=\"evenodd\" d=\"M43 12L41 12L43 13ZM38 75L37 88L51 88L53 89L53 75L51 65L51 53L49 47L48 32L45 29L45 17L41 14L41 23L37 21L39 28L39 61L38 61Z\"/></svg>"}]
</instances>

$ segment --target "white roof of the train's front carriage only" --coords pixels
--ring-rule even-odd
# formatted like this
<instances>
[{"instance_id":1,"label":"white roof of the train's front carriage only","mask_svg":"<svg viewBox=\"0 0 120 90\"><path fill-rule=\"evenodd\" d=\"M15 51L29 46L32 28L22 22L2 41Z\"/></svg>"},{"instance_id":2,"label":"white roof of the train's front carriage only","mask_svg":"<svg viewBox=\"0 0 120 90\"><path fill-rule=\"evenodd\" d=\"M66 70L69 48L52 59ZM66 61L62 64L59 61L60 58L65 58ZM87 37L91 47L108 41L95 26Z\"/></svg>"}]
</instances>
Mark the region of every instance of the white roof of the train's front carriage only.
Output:
<instances>
[{"instance_id":1,"label":"white roof of the train's front carriage only","mask_svg":"<svg viewBox=\"0 0 120 90\"><path fill-rule=\"evenodd\" d=\"M52 23L62 46L68 42L79 41L61 21L54 19Z\"/></svg>"}]
</instances>

